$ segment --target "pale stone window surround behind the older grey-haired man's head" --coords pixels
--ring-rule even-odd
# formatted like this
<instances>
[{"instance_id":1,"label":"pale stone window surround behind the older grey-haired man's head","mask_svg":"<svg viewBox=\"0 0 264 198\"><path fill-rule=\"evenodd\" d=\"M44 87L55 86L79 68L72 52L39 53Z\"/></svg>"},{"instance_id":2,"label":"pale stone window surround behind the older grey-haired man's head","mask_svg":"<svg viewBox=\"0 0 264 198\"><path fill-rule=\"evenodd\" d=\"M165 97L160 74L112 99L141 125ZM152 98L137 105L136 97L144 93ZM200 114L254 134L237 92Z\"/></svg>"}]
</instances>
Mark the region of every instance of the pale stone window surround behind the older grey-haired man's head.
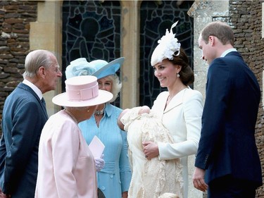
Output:
<instances>
[{"instance_id":1,"label":"pale stone window surround behind the older grey-haired man's head","mask_svg":"<svg viewBox=\"0 0 264 198\"><path fill-rule=\"evenodd\" d=\"M39 1L37 4L37 21L30 23L30 50L46 49L52 51L60 66L62 62L62 4L63 1ZM51 102L51 99L58 93L61 93L60 81L55 91L44 94L49 116L61 108Z\"/></svg>"}]
</instances>

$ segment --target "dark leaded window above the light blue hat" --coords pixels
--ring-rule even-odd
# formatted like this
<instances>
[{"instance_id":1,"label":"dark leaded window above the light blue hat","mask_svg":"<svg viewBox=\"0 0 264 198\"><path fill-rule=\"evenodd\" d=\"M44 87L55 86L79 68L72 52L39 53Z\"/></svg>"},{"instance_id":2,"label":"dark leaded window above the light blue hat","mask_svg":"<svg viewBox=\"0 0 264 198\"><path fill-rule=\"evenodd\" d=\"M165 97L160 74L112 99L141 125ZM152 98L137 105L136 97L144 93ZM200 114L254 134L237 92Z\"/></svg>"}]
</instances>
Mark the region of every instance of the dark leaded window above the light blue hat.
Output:
<instances>
[{"instance_id":1,"label":"dark leaded window above the light blue hat","mask_svg":"<svg viewBox=\"0 0 264 198\"><path fill-rule=\"evenodd\" d=\"M63 82L65 68L76 58L120 57L120 13L119 1L63 1Z\"/></svg>"}]
</instances>

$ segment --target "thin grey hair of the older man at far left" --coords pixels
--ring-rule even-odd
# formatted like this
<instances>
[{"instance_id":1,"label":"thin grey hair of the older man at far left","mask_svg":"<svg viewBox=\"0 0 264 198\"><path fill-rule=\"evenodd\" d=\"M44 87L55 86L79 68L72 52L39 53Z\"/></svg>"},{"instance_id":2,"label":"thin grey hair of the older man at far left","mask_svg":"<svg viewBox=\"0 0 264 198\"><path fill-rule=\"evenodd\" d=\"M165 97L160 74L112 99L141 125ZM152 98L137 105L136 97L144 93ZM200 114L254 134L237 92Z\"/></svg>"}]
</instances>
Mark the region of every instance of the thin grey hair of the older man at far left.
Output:
<instances>
[{"instance_id":1,"label":"thin grey hair of the older man at far left","mask_svg":"<svg viewBox=\"0 0 264 198\"><path fill-rule=\"evenodd\" d=\"M45 69L48 69L52 64L52 56L54 54L51 51L47 51L44 49L37 49L31 51L25 57L25 72L23 73L23 78L34 78L37 74L37 70L41 66Z\"/></svg>"}]
</instances>

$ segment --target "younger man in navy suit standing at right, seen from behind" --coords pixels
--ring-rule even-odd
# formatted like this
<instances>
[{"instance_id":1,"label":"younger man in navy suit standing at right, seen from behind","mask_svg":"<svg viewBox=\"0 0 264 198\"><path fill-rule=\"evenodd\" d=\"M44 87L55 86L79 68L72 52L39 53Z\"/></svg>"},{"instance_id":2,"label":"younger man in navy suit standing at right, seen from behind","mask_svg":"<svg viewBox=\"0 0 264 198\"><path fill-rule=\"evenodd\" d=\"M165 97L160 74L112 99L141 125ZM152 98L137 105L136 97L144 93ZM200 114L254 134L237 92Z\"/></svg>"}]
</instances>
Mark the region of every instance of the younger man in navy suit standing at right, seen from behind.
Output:
<instances>
[{"instance_id":1,"label":"younger man in navy suit standing at right, seen from behind","mask_svg":"<svg viewBox=\"0 0 264 198\"><path fill-rule=\"evenodd\" d=\"M209 68L194 187L208 190L208 198L254 198L262 185L254 136L258 81L234 49L234 33L226 23L206 25L199 48Z\"/></svg>"}]
</instances>

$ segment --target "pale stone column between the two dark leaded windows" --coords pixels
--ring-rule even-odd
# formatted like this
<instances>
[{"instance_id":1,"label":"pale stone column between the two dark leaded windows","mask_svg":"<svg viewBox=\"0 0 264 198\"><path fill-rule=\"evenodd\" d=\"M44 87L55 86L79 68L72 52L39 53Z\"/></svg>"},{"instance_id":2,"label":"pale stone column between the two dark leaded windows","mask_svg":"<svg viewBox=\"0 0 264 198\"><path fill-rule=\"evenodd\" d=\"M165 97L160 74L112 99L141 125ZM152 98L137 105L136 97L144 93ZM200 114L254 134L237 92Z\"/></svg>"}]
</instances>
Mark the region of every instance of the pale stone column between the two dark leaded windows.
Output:
<instances>
[{"instance_id":1,"label":"pale stone column between the two dark leaded windows","mask_svg":"<svg viewBox=\"0 0 264 198\"><path fill-rule=\"evenodd\" d=\"M120 1L121 20L121 56L125 63L121 67L122 90L121 108L139 105L139 6L141 1Z\"/></svg>"}]
</instances>

